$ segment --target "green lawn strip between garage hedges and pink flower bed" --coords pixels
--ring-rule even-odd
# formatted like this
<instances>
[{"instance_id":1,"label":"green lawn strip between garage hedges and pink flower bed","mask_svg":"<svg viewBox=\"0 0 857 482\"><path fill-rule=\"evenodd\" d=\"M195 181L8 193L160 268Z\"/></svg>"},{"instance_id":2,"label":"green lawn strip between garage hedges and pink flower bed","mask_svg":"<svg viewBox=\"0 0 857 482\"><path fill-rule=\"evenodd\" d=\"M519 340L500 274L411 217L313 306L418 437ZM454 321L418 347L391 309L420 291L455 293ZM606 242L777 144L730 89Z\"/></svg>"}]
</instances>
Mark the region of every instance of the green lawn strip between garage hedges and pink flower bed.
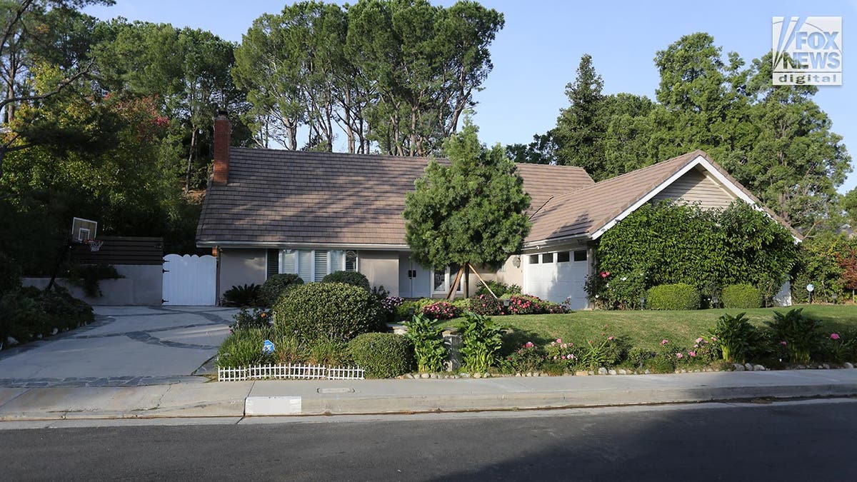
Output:
<instances>
[{"instance_id":1,"label":"green lawn strip between garage hedges and pink flower bed","mask_svg":"<svg viewBox=\"0 0 857 482\"><path fill-rule=\"evenodd\" d=\"M797 306L800 308L800 306ZM857 306L855 305L804 305L804 314L818 318L823 329L836 332L857 328ZM565 315L511 315L494 316L495 322L511 326L515 333L513 341L523 344L532 341L547 344L561 338L576 345L586 340L595 340L602 333L627 336L634 346L654 349L663 339L674 346L692 346L693 340L704 336L708 328L715 325L723 313L738 314L746 311L750 321L763 326L773 317L775 310L787 308L765 308L756 310L694 310L694 311L576 311ZM456 325L458 320L446 322ZM605 328L606 327L606 328Z\"/></svg>"}]
</instances>

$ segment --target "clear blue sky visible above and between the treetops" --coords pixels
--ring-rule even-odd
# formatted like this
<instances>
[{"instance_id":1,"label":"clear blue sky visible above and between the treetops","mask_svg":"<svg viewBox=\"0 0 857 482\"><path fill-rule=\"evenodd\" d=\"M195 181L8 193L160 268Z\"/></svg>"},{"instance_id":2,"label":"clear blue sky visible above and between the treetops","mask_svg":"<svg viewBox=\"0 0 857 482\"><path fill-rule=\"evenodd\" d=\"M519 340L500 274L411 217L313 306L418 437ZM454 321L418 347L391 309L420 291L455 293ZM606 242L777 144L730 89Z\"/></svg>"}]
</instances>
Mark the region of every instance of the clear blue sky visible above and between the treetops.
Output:
<instances>
[{"instance_id":1,"label":"clear blue sky visible above and between the treetops","mask_svg":"<svg viewBox=\"0 0 857 482\"><path fill-rule=\"evenodd\" d=\"M438 2L449 5L446 0ZM606 93L637 93L654 98L658 75L652 59L686 33L707 32L723 51L737 51L747 62L771 48L774 15L842 16L842 86L820 87L815 100L833 120L857 158L857 0L813 2L725 0L720 2L600 2L482 0L506 15L506 27L491 45L494 71L476 93L476 124L482 142L530 142L533 134L554 126L568 104L580 56L589 53L604 78ZM271 0L117 0L112 7L86 11L101 19L171 23L209 30L240 42L263 13L276 13L285 2ZM852 30L852 28L854 28ZM854 52L854 53L851 53ZM857 186L857 172L840 188Z\"/></svg>"}]
</instances>

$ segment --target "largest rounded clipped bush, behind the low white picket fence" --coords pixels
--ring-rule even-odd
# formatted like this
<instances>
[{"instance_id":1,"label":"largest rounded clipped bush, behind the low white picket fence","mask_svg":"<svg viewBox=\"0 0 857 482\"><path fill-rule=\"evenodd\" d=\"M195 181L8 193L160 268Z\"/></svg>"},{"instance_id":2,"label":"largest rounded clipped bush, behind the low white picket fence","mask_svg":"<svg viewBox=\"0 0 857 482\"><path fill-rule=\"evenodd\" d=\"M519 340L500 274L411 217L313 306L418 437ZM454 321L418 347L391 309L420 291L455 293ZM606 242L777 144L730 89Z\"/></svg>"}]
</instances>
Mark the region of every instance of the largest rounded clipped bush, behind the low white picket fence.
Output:
<instances>
[{"instance_id":1,"label":"largest rounded clipped bush, behind the low white picket fence","mask_svg":"<svg viewBox=\"0 0 857 482\"><path fill-rule=\"evenodd\" d=\"M372 293L345 283L292 288L274 306L274 324L299 340L347 341L379 328L381 306Z\"/></svg>"}]
</instances>

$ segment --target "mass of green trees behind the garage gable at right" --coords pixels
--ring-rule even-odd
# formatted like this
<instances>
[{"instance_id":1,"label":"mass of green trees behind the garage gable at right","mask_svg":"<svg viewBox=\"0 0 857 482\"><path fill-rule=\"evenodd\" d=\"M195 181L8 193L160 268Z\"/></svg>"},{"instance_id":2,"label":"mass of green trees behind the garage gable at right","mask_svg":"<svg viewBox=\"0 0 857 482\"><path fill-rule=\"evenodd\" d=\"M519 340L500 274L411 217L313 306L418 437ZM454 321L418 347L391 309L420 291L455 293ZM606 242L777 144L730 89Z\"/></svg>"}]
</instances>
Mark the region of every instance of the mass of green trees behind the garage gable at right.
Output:
<instances>
[{"instance_id":1,"label":"mass of green trees behind the garage gable at right","mask_svg":"<svg viewBox=\"0 0 857 482\"><path fill-rule=\"evenodd\" d=\"M707 33L681 37L654 61L656 101L603 94L584 55L556 127L508 152L518 162L582 166L601 181L704 149L804 234L839 227L836 188L851 156L812 101L818 87L774 86L770 53L746 64L735 52L724 57Z\"/></svg>"}]
</instances>

